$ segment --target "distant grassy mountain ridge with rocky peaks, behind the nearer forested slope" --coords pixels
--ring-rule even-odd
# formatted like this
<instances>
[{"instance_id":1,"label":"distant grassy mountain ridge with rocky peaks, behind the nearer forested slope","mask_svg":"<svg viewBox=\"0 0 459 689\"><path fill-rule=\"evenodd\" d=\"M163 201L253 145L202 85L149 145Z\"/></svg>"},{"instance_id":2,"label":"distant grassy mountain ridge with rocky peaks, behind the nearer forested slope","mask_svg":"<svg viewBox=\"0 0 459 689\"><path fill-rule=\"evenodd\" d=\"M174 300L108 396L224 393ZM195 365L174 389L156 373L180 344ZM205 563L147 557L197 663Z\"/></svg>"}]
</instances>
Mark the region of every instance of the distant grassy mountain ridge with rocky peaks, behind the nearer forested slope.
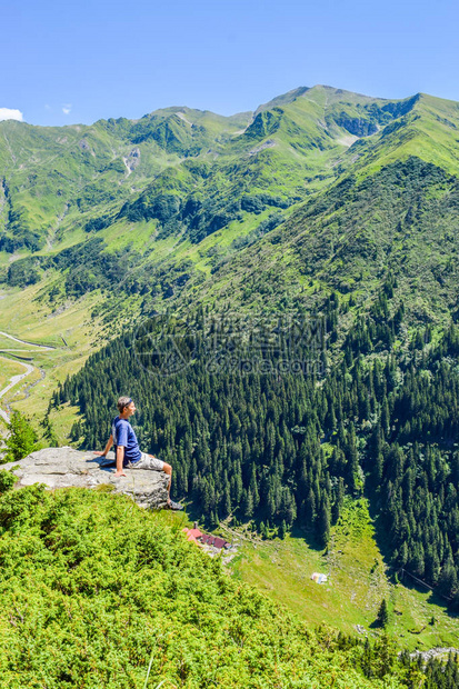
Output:
<instances>
[{"instance_id":1,"label":"distant grassy mountain ridge with rocky peaks, behind the nearer forested slope","mask_svg":"<svg viewBox=\"0 0 459 689\"><path fill-rule=\"evenodd\" d=\"M297 89L253 116L169 108L62 131L2 122L3 282L44 281L44 297L61 303L121 281L160 307L287 218L297 227L296 209L337 180L340 193L350 173L373 194L373 177L408 159L455 173L457 126L450 101L329 87ZM107 256L101 274L92 247Z\"/></svg>"}]
</instances>

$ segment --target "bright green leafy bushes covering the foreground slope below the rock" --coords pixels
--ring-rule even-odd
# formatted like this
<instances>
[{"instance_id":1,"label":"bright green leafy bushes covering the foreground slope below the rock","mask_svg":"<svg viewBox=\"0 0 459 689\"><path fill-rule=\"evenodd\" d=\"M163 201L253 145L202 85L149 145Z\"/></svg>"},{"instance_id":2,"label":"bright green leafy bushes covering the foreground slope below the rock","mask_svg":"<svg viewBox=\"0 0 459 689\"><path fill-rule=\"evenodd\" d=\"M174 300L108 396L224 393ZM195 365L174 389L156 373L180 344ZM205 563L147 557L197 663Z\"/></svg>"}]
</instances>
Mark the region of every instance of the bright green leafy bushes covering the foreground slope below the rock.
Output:
<instances>
[{"instance_id":1,"label":"bright green leafy bushes covering the foreground slope below the rock","mask_svg":"<svg viewBox=\"0 0 459 689\"><path fill-rule=\"evenodd\" d=\"M363 689L399 687L362 647L315 632L219 559L181 521L126 497L33 486L0 498L0 687ZM367 652L368 656L368 652Z\"/></svg>"}]
</instances>

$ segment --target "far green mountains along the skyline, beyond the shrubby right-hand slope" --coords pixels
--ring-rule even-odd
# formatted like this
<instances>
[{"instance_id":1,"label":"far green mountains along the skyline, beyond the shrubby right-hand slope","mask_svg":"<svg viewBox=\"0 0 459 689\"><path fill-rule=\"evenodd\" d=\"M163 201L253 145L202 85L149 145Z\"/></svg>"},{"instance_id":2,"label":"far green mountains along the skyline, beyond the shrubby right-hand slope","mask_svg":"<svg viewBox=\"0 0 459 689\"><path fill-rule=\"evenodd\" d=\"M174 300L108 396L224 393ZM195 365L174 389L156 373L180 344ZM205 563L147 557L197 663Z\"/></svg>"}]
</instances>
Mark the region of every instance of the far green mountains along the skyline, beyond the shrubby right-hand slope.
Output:
<instances>
[{"instance_id":1,"label":"far green mountains along the skyline, beyond the shrubby right-hand slope","mask_svg":"<svg viewBox=\"0 0 459 689\"><path fill-rule=\"evenodd\" d=\"M252 118L169 108L92 127L2 122L0 246L49 254L108 229L110 247L139 221L159 240L196 243L231 223L245 234L253 216L301 202L349 169L368 174L417 156L453 172L457 122L449 101L328 87L297 89Z\"/></svg>"}]
</instances>

